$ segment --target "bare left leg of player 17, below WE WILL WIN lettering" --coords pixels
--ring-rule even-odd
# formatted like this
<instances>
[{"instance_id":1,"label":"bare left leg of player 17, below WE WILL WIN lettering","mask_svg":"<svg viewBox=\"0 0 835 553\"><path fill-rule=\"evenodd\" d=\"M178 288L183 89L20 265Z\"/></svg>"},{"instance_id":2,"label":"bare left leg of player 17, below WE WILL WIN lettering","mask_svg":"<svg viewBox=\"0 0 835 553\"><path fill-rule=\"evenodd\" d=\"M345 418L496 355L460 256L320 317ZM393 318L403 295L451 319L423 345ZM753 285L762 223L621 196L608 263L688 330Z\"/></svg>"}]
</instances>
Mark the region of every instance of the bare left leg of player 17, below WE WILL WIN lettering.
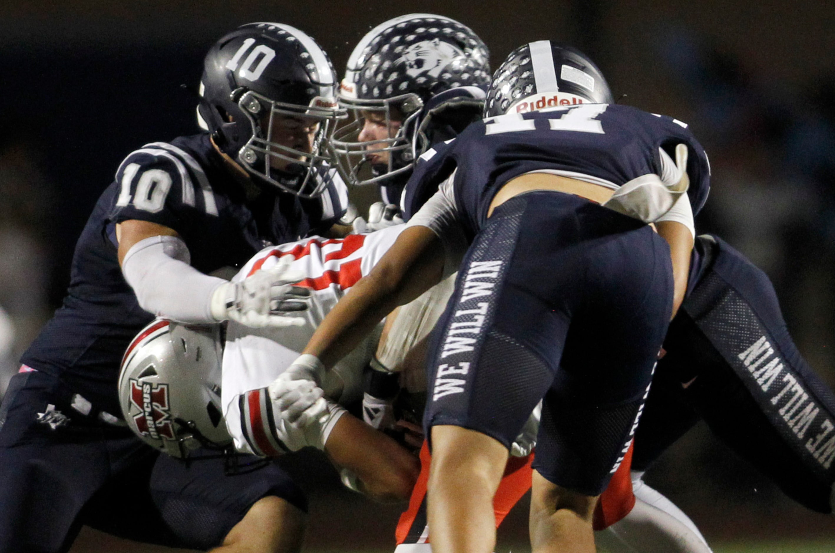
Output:
<instances>
[{"instance_id":1,"label":"bare left leg of player 17, below WE WILL WIN lettering","mask_svg":"<svg viewBox=\"0 0 835 553\"><path fill-rule=\"evenodd\" d=\"M427 518L436 553L492 553L493 495L507 461L508 450L486 434L433 427Z\"/></svg>"}]
</instances>

